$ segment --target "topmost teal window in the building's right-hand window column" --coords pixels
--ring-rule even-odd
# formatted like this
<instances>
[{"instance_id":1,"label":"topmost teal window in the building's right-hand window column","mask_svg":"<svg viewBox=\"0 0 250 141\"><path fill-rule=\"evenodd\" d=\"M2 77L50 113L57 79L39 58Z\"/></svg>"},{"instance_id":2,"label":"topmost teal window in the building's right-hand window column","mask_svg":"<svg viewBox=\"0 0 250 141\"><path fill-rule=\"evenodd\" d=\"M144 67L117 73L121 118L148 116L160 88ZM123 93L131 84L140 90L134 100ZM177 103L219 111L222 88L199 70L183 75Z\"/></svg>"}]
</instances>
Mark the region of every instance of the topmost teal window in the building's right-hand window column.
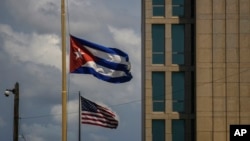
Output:
<instances>
[{"instance_id":1,"label":"topmost teal window in the building's right-hand window column","mask_svg":"<svg viewBox=\"0 0 250 141\"><path fill-rule=\"evenodd\" d=\"M172 0L172 15L184 16L184 0Z\"/></svg>"}]
</instances>

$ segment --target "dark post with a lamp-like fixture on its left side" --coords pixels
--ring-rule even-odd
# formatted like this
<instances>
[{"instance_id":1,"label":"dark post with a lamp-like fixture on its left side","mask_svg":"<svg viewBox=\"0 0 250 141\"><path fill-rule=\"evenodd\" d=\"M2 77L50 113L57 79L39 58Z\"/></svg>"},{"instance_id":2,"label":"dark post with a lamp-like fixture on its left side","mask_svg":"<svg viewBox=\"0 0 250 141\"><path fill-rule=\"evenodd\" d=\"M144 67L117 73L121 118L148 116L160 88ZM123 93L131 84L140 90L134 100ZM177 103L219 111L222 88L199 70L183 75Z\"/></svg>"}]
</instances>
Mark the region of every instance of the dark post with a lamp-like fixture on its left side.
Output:
<instances>
[{"instance_id":1,"label":"dark post with a lamp-like fixture on its left side","mask_svg":"<svg viewBox=\"0 0 250 141\"><path fill-rule=\"evenodd\" d=\"M19 122L19 83L16 82L14 89L6 89L4 95L8 97L10 92L14 94L14 123L13 123L13 141L18 141L18 122Z\"/></svg>"}]
</instances>

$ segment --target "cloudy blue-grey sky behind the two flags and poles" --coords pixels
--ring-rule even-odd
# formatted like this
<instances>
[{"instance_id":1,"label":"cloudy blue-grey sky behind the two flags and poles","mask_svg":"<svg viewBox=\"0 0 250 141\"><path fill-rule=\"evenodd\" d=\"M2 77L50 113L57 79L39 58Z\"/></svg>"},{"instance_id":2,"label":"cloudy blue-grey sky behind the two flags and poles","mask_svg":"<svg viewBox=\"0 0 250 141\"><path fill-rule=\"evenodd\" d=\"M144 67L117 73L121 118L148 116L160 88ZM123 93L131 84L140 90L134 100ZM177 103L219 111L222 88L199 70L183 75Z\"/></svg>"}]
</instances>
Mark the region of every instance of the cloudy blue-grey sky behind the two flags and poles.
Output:
<instances>
[{"instance_id":1,"label":"cloudy blue-grey sky behind the two flags and poles","mask_svg":"<svg viewBox=\"0 0 250 141\"><path fill-rule=\"evenodd\" d=\"M69 34L127 52L133 79L110 84L91 75L68 75L68 140L78 137L78 92L119 116L118 129L82 125L84 141L141 139L140 0L68 0ZM20 83L20 141L61 140L60 0L1 0L0 140L13 136L14 96ZM67 41L67 50L69 50ZM68 55L68 53L67 53ZM68 59L68 56L67 56ZM68 70L67 70L68 71Z\"/></svg>"}]
</instances>

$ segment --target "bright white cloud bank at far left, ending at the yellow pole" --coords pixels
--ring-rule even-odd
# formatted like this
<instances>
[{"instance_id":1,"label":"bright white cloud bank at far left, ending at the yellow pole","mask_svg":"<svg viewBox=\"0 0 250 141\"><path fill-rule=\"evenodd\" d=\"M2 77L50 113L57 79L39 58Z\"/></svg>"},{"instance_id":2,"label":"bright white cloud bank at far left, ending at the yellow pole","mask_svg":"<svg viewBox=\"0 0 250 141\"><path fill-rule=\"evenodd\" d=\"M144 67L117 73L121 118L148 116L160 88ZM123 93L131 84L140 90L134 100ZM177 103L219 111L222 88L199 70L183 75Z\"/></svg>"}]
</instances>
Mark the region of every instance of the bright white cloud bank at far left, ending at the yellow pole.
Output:
<instances>
[{"instance_id":1,"label":"bright white cloud bank at far left, ending at the yellow pole","mask_svg":"<svg viewBox=\"0 0 250 141\"><path fill-rule=\"evenodd\" d=\"M0 24L4 50L13 59L61 69L60 38L55 34L25 34Z\"/></svg>"}]
</instances>

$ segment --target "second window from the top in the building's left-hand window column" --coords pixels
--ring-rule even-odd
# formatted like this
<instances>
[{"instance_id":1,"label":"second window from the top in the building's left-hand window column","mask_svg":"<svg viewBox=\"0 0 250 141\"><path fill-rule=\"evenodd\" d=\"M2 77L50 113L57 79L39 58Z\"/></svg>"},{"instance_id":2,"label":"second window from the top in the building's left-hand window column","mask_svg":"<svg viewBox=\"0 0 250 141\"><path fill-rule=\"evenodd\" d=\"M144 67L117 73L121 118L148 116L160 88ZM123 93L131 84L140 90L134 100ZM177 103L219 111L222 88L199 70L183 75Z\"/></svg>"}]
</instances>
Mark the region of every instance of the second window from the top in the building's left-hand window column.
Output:
<instances>
[{"instance_id":1,"label":"second window from the top in the building's left-hand window column","mask_svg":"<svg viewBox=\"0 0 250 141\"><path fill-rule=\"evenodd\" d=\"M165 64L165 25L152 25L152 63Z\"/></svg>"}]
</instances>

